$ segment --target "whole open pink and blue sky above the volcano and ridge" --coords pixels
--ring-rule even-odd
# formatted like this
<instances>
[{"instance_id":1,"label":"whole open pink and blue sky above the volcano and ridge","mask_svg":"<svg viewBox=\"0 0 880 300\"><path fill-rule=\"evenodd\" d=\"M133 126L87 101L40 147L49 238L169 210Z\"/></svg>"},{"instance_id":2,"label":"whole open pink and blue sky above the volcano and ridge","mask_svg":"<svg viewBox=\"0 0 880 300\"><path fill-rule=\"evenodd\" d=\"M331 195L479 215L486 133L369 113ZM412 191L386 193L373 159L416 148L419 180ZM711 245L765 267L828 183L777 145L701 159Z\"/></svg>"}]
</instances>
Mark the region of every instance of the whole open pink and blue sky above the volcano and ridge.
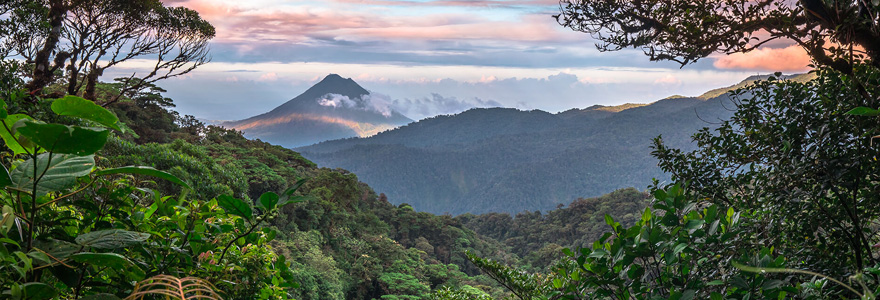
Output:
<instances>
[{"instance_id":1,"label":"whole open pink and blue sky above the volcano and ridge","mask_svg":"<svg viewBox=\"0 0 880 300\"><path fill-rule=\"evenodd\" d=\"M194 9L217 29L211 63L159 82L180 113L207 120L269 111L331 73L418 120L471 107L558 112L649 103L755 74L805 72L809 63L786 45L684 68L650 62L637 49L599 52L588 34L556 23L557 0L164 3Z\"/></svg>"}]
</instances>

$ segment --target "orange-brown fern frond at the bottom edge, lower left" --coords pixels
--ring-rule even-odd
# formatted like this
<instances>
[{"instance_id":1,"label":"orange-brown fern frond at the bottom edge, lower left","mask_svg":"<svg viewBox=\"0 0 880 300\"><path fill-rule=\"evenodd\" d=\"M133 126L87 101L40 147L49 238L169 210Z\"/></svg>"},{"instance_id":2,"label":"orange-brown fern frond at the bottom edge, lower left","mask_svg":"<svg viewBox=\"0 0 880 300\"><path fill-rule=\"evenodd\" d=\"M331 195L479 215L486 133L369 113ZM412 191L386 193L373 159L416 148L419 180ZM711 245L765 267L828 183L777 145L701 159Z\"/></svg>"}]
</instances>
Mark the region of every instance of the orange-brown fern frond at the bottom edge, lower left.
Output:
<instances>
[{"instance_id":1,"label":"orange-brown fern frond at the bottom edge, lower left","mask_svg":"<svg viewBox=\"0 0 880 300\"><path fill-rule=\"evenodd\" d=\"M222 300L214 292L214 285L201 278L177 278L157 275L139 282L131 295L125 300L169 299L169 300ZM151 297L148 297L151 296Z\"/></svg>"}]
</instances>

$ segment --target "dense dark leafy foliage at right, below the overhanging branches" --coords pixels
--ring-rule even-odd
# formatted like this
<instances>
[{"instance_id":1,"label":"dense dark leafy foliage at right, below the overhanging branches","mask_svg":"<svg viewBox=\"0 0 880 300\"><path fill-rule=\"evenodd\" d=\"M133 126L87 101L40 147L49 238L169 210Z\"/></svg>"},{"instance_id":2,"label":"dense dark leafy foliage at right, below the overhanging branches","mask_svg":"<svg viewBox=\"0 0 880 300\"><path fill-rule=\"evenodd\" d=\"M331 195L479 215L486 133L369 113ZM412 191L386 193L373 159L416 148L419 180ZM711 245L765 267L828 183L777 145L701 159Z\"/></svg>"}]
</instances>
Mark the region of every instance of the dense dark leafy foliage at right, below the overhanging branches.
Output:
<instances>
[{"instance_id":1,"label":"dense dark leafy foliage at right, below the overhanging branches","mask_svg":"<svg viewBox=\"0 0 880 300\"><path fill-rule=\"evenodd\" d=\"M880 92L876 69L857 70L873 78L870 92ZM871 245L880 165L870 137L880 120L845 114L863 105L848 76L818 74L807 83L771 79L741 90L729 121L695 135L698 150L658 139L655 155L708 201L754 212L749 230L800 262L795 267L840 277L877 262Z\"/></svg>"}]
</instances>

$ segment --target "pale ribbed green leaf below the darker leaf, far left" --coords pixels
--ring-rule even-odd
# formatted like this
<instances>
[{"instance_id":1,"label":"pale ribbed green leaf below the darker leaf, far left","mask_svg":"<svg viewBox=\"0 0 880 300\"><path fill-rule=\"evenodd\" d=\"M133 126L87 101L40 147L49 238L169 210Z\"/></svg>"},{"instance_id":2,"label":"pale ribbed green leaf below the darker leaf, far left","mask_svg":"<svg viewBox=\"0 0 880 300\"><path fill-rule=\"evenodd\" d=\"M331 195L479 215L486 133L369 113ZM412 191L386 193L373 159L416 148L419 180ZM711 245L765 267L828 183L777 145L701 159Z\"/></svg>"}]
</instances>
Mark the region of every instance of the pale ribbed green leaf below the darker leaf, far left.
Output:
<instances>
[{"instance_id":1,"label":"pale ribbed green leaf below the darker leaf, far left","mask_svg":"<svg viewBox=\"0 0 880 300\"><path fill-rule=\"evenodd\" d=\"M51 157L51 160L50 160ZM95 167L94 155L78 156L72 154L43 153L37 156L37 163L28 159L12 169L12 186L22 191L31 191L34 184L36 168L37 194L43 196L49 192L61 191L73 186L76 178L88 175ZM42 174L42 177L40 175Z\"/></svg>"}]
</instances>

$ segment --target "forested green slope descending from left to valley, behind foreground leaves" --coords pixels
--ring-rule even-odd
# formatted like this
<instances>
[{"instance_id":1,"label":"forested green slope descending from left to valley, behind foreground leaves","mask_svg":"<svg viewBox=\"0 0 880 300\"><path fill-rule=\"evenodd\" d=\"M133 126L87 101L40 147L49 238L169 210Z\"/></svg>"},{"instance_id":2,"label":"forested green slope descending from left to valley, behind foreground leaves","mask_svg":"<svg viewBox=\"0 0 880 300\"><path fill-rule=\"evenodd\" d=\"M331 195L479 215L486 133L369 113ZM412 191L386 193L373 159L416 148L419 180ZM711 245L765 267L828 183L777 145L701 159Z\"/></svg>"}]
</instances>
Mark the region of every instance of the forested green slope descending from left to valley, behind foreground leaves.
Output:
<instances>
[{"instance_id":1,"label":"forested green slope descending from left to valley, behind foreground leaves","mask_svg":"<svg viewBox=\"0 0 880 300\"><path fill-rule=\"evenodd\" d=\"M117 107L117 114L126 116L123 120L132 128L144 125L134 121L144 119L140 112L151 111ZM168 170L192 183L200 197L229 194L255 203L265 192L284 191L305 179L298 193L306 200L281 208L268 220L269 228L277 232L271 249L287 257L291 280L299 284L289 290L295 299L421 297L441 285L482 286L500 295L503 291L479 276L464 251L519 261L507 254L505 245L480 238L450 216L390 204L355 174L317 168L296 152L246 139L234 130L184 124L189 117L166 117L172 123L156 128L169 130L154 132L152 139L170 143L138 143L145 142L144 137L134 136L112 139L101 152L104 161ZM156 187L168 194L177 192L170 185Z\"/></svg>"}]
</instances>

